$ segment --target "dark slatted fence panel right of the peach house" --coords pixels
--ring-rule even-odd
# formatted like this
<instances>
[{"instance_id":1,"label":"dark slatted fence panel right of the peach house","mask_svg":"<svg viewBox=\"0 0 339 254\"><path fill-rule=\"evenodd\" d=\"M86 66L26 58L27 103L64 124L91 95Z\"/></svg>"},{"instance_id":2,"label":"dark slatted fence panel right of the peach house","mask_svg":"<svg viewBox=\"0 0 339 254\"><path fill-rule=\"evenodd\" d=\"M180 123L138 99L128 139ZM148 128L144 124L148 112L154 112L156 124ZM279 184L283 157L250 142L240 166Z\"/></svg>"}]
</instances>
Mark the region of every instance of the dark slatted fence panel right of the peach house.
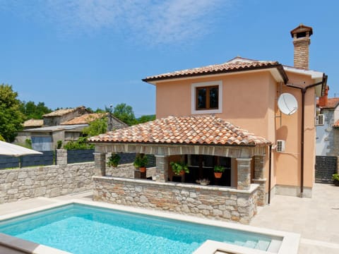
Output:
<instances>
[{"instance_id":1,"label":"dark slatted fence panel right of the peach house","mask_svg":"<svg viewBox=\"0 0 339 254\"><path fill-rule=\"evenodd\" d=\"M337 157L316 156L316 183L332 183L337 172Z\"/></svg>"}]
</instances>

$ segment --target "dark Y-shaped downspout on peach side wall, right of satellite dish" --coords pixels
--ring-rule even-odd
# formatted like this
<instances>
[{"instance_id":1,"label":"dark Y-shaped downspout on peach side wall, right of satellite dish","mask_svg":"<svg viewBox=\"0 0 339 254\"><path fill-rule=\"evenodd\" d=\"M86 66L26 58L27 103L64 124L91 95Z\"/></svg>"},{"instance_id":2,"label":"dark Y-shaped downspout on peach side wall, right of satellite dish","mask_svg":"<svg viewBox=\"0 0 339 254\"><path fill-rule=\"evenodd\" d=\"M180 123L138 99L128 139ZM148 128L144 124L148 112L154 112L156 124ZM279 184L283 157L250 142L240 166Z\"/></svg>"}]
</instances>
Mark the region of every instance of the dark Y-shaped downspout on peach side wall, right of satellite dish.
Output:
<instances>
[{"instance_id":1,"label":"dark Y-shaped downspout on peach side wall, right of satellite dish","mask_svg":"<svg viewBox=\"0 0 339 254\"><path fill-rule=\"evenodd\" d=\"M304 195L304 125L305 125L305 94L307 92L307 90L311 87L316 87L317 85L326 85L326 80L327 80L327 76L323 75L323 80L321 82L318 83L314 83L311 85L307 85L306 87L298 87L295 86L293 84L288 85L288 87L292 87L292 88L297 88L299 90L301 90L302 92L302 144L301 144L301 151L300 151L300 167L301 167L301 172L300 172L300 198L303 198Z\"/></svg>"}]
</instances>

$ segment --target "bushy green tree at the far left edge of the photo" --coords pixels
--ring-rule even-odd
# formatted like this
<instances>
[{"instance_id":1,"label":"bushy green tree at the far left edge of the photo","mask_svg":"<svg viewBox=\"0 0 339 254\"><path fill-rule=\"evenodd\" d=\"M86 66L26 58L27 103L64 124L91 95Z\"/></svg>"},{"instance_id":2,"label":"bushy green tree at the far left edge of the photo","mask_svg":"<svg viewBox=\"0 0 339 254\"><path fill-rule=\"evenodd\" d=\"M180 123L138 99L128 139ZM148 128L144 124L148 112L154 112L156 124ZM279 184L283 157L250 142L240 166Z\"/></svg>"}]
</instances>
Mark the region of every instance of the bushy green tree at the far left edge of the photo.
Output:
<instances>
[{"instance_id":1,"label":"bushy green tree at the far left edge of the photo","mask_svg":"<svg viewBox=\"0 0 339 254\"><path fill-rule=\"evenodd\" d=\"M0 85L0 135L7 142L12 142L23 129L23 114L17 97L18 92L13 92L11 85Z\"/></svg>"}]
</instances>

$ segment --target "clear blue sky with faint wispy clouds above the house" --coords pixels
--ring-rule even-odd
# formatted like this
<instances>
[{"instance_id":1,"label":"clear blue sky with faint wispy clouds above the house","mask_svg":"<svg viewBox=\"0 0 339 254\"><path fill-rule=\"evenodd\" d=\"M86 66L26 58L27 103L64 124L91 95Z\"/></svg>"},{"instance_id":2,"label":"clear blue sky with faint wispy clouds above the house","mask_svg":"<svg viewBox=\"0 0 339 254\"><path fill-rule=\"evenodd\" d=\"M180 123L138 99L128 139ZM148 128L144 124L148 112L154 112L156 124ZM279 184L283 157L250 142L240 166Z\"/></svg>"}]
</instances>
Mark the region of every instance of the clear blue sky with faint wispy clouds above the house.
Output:
<instances>
[{"instance_id":1,"label":"clear blue sky with faint wispy clouds above the house","mask_svg":"<svg viewBox=\"0 0 339 254\"><path fill-rule=\"evenodd\" d=\"M51 109L124 102L154 114L155 87L142 78L235 56L292 66L290 30L303 23L314 29L310 68L339 97L338 3L0 0L0 83Z\"/></svg>"}]
</instances>

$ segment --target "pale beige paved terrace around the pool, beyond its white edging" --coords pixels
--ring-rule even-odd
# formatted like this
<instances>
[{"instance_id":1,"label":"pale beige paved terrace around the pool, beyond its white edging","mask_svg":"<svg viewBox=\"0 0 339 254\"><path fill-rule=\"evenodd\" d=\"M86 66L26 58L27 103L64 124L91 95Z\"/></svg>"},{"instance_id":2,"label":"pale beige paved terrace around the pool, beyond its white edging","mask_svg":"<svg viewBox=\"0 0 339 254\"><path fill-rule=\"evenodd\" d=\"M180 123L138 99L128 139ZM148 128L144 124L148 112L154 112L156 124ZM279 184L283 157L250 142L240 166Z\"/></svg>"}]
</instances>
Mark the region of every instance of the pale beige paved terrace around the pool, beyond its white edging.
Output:
<instances>
[{"instance_id":1,"label":"pale beige paved terrace around the pool, beyond its white edging","mask_svg":"<svg viewBox=\"0 0 339 254\"><path fill-rule=\"evenodd\" d=\"M61 200L91 198L90 192L57 198L32 198L0 205L0 215L50 205ZM301 234L299 254L338 254L339 187L317 183L313 198L275 195L270 205L258 211L251 226ZM0 253L1 251L7 253L0 248Z\"/></svg>"}]
</instances>

